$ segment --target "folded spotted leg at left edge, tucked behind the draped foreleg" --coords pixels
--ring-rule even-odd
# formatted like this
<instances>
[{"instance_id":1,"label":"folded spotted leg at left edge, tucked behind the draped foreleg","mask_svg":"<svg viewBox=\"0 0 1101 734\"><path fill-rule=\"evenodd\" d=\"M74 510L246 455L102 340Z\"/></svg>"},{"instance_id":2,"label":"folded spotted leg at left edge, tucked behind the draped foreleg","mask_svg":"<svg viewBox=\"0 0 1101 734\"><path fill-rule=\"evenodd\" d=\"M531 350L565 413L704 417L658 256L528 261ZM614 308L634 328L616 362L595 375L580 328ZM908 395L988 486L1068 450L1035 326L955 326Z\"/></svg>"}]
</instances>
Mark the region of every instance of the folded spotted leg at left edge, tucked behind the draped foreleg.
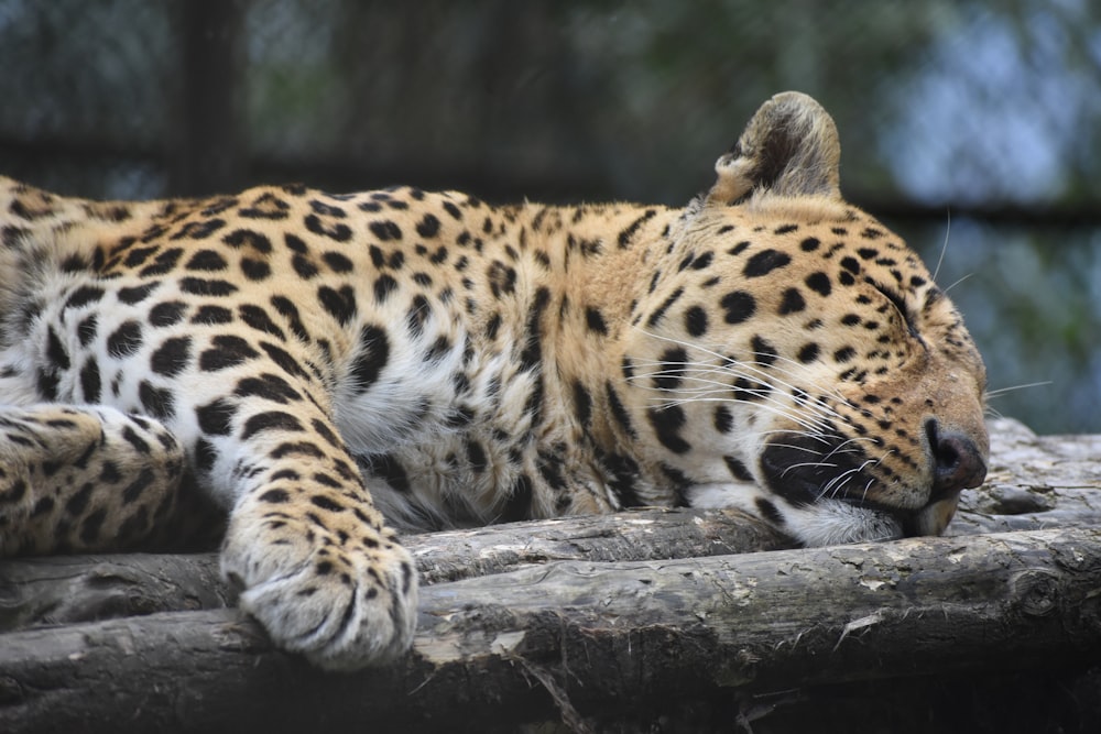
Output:
<instances>
[{"instance_id":1,"label":"folded spotted leg at left edge, tucked behind the draped foreleg","mask_svg":"<svg viewBox=\"0 0 1101 734\"><path fill-rule=\"evenodd\" d=\"M101 406L0 406L0 556L134 548L176 507L184 452Z\"/></svg>"}]
</instances>

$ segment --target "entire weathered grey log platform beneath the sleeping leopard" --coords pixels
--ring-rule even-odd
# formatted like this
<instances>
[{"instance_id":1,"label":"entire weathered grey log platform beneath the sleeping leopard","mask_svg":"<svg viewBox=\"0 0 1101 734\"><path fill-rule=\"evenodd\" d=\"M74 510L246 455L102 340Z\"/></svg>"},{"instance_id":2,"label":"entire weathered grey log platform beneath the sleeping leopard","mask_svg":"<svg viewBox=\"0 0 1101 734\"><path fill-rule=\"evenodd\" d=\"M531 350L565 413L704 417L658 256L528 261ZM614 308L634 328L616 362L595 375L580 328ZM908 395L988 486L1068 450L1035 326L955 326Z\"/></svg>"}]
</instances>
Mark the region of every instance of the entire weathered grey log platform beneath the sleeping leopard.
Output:
<instances>
[{"instance_id":1,"label":"entire weathered grey log platform beneath the sleeping leopard","mask_svg":"<svg viewBox=\"0 0 1101 734\"><path fill-rule=\"evenodd\" d=\"M701 691L745 719L767 691L1086 670L1101 438L992 428L990 481L951 527L966 537L730 555L781 541L726 513L646 511L411 538L436 582L414 653L353 676L219 609L232 596L210 556L0 565L0 620L22 627L0 636L0 732L585 731Z\"/></svg>"}]
</instances>

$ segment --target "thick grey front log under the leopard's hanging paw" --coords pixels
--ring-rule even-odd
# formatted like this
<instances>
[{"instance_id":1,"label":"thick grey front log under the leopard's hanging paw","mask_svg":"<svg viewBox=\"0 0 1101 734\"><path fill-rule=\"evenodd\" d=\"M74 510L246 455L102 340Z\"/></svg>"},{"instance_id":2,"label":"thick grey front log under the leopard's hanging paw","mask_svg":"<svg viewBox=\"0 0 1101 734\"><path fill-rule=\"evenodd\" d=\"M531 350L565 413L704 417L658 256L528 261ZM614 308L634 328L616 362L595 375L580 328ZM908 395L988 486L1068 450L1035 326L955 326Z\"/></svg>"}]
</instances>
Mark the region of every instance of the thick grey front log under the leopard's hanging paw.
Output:
<instances>
[{"instance_id":1,"label":"thick grey front log under the leopard's hanging paw","mask_svg":"<svg viewBox=\"0 0 1101 734\"><path fill-rule=\"evenodd\" d=\"M235 610L9 633L0 731L509 731L706 690L1044 670L1101 655L1101 530L554 561L423 592L413 653L320 673Z\"/></svg>"}]
</instances>

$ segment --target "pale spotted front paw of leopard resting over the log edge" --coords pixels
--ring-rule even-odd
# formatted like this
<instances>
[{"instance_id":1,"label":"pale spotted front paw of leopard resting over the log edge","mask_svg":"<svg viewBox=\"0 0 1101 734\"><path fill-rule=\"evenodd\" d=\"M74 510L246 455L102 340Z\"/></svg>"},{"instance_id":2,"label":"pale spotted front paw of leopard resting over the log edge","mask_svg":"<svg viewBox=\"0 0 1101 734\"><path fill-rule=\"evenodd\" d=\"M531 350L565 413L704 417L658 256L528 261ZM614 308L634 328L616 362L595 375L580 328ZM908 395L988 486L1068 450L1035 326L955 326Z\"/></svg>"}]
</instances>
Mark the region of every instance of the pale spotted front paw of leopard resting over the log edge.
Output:
<instances>
[{"instance_id":1,"label":"pale spotted front paw of leopard resting over the log edge","mask_svg":"<svg viewBox=\"0 0 1101 734\"><path fill-rule=\"evenodd\" d=\"M416 572L383 532L321 529L290 517L235 513L222 573L242 585L240 606L284 650L328 670L386 662L416 626Z\"/></svg>"}]
</instances>

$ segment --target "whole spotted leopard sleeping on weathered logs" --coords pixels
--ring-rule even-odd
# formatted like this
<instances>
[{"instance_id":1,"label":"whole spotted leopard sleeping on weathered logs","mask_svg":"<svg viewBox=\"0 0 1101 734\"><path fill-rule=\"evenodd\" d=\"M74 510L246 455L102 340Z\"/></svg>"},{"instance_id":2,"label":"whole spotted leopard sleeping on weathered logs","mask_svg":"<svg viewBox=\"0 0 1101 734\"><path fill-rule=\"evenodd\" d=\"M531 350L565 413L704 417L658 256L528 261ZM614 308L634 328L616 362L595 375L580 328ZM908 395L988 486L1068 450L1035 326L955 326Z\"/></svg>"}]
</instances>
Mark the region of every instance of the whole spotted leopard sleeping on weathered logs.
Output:
<instances>
[{"instance_id":1,"label":"whole spotted leopard sleeping on weathered logs","mask_svg":"<svg viewBox=\"0 0 1101 734\"><path fill-rule=\"evenodd\" d=\"M687 506L941 534L986 472L985 369L839 161L784 92L682 208L2 178L0 555L218 544L279 648L355 670L411 646L399 533Z\"/></svg>"}]
</instances>

